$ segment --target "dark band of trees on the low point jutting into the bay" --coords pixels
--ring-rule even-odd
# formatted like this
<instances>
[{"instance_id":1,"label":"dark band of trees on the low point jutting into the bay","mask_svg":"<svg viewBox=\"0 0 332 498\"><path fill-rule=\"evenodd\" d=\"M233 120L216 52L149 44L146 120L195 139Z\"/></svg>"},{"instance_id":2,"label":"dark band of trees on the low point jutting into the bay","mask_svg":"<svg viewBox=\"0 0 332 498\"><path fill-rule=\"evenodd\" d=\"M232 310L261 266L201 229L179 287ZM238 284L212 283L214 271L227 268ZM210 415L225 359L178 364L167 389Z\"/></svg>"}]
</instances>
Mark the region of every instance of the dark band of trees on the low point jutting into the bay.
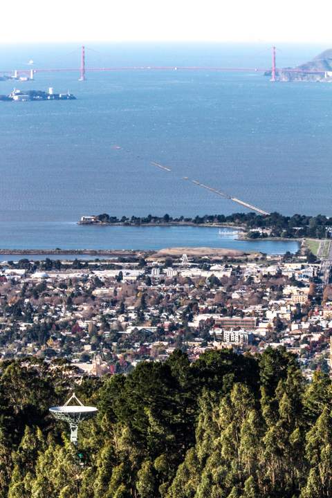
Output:
<instances>
[{"instance_id":1,"label":"dark band of trees on the low point jutting into the bay","mask_svg":"<svg viewBox=\"0 0 332 498\"><path fill-rule=\"evenodd\" d=\"M332 218L318 214L317 216L305 216L304 214L294 214L293 216L283 216L277 212L263 216L253 212L233 213L225 216L223 214L205 214L205 216L194 216L193 218L179 216L172 217L169 214L164 216L110 216L107 213L99 214L98 221L101 223L122 223L124 225L145 225L158 223L195 223L218 224L230 223L244 227L248 230L266 229L271 230L270 237L315 237L322 239L330 237L332 230ZM254 232L252 237L266 237L266 234Z\"/></svg>"}]
</instances>

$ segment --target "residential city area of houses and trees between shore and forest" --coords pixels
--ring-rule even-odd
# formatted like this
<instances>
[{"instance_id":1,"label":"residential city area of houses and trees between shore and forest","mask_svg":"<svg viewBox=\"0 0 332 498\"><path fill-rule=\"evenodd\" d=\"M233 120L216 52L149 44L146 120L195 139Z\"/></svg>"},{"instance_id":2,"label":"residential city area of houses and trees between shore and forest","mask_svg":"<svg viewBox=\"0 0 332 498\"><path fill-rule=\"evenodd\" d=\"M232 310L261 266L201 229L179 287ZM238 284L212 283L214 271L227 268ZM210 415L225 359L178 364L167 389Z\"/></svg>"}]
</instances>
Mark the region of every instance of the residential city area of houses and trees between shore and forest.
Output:
<instances>
[{"instance_id":1,"label":"residential city area of houses and trees between shore and forest","mask_svg":"<svg viewBox=\"0 0 332 498\"><path fill-rule=\"evenodd\" d=\"M122 259L3 262L1 359L62 359L79 375L100 376L163 362L174 349L196 360L207 349L284 346L308 377L329 369L332 288L322 284L320 261Z\"/></svg>"}]
</instances>

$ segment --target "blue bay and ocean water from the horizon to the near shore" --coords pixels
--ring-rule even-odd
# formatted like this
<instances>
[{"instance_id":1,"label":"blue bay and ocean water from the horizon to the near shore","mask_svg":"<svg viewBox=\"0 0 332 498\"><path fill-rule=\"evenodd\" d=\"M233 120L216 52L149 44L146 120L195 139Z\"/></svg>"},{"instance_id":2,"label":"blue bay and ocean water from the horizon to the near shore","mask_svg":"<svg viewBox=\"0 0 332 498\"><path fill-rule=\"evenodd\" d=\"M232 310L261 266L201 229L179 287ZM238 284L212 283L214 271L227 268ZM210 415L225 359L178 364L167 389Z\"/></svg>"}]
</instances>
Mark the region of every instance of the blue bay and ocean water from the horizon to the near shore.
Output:
<instances>
[{"instance_id":1,"label":"blue bay and ocean water from the horizon to the near shore","mask_svg":"<svg viewBox=\"0 0 332 498\"><path fill-rule=\"evenodd\" d=\"M77 66L74 48L9 46L0 50L0 68L28 68L30 58L38 67ZM284 46L278 61L298 64L323 48ZM87 50L88 66L270 65L264 46L114 44L93 50ZM21 89L69 89L75 101L0 102L0 247L131 246L127 230L114 240L106 230L100 235L92 228L91 235L77 228L73 222L83 214L243 211L182 176L264 210L332 215L331 85L271 84L255 72L87 76L82 83L76 73L39 73L34 82L15 82ZM12 86L0 82L0 93ZM173 171L152 167L152 160ZM180 234L162 233L156 241L154 230L149 241L142 232L135 243L182 245ZM206 230L193 233L192 245L214 244Z\"/></svg>"}]
</instances>

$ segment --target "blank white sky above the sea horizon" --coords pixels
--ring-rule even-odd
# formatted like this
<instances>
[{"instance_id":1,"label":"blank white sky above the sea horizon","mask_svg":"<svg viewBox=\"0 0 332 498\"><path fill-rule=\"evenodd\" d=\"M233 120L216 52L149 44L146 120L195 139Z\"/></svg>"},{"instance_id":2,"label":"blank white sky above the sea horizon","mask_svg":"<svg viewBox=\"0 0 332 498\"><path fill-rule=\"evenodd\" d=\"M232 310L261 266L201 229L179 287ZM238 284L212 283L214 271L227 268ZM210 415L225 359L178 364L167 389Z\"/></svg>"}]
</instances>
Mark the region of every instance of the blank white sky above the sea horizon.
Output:
<instances>
[{"instance_id":1,"label":"blank white sky above the sea horizon","mask_svg":"<svg viewBox=\"0 0 332 498\"><path fill-rule=\"evenodd\" d=\"M0 43L296 42L331 46L331 0L1 1Z\"/></svg>"}]
</instances>

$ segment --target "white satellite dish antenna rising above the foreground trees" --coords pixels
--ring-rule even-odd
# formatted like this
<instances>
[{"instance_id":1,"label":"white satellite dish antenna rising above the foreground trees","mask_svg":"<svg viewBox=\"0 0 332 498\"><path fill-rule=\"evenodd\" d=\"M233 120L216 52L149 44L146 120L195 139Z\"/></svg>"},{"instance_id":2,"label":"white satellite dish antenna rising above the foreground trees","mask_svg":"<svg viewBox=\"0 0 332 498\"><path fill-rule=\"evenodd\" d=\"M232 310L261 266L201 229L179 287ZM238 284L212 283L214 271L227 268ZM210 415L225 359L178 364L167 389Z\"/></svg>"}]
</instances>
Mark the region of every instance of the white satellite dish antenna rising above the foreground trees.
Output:
<instances>
[{"instance_id":1,"label":"white satellite dish antenna rising above the foreground trees","mask_svg":"<svg viewBox=\"0 0 332 498\"><path fill-rule=\"evenodd\" d=\"M78 404L69 405L72 400L76 401ZM89 420L89 418L93 418L93 416L97 414L98 409L84 406L74 393L63 406L50 407L49 411L57 420L68 422L71 427L71 442L77 445L78 425L81 422Z\"/></svg>"}]
</instances>

